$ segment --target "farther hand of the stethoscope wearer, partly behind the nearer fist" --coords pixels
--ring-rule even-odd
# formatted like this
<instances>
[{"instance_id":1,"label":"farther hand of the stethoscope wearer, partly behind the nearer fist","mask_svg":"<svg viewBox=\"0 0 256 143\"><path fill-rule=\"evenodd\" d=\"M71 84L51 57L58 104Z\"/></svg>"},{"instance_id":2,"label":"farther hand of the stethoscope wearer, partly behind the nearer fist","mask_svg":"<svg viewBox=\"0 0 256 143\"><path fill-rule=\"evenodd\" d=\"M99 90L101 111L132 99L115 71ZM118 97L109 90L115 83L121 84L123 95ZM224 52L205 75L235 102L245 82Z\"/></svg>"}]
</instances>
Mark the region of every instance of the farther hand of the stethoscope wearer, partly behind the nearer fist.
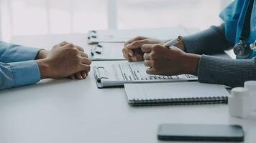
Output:
<instances>
[{"instance_id":1,"label":"farther hand of the stethoscope wearer, partly behind the nearer fist","mask_svg":"<svg viewBox=\"0 0 256 143\"><path fill-rule=\"evenodd\" d=\"M124 43L123 55L128 61L142 61L143 54L141 47L144 44L160 44L163 41L150 39L145 36L137 36Z\"/></svg>"}]
</instances>

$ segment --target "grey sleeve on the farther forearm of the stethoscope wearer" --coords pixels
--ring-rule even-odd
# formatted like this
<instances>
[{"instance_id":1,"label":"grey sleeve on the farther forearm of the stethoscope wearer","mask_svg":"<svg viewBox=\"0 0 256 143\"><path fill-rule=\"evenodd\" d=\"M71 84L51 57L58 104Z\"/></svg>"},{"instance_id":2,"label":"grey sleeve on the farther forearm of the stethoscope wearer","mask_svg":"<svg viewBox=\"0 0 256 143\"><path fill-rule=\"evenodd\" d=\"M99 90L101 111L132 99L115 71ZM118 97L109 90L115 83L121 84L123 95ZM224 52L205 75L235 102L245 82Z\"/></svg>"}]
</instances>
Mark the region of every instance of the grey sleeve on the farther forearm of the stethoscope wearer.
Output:
<instances>
[{"instance_id":1,"label":"grey sleeve on the farther forearm of the stethoscope wearer","mask_svg":"<svg viewBox=\"0 0 256 143\"><path fill-rule=\"evenodd\" d=\"M197 34L184 36L183 43L185 51L193 54L214 54L232 47L225 38L224 25L211 26Z\"/></svg>"}]
</instances>

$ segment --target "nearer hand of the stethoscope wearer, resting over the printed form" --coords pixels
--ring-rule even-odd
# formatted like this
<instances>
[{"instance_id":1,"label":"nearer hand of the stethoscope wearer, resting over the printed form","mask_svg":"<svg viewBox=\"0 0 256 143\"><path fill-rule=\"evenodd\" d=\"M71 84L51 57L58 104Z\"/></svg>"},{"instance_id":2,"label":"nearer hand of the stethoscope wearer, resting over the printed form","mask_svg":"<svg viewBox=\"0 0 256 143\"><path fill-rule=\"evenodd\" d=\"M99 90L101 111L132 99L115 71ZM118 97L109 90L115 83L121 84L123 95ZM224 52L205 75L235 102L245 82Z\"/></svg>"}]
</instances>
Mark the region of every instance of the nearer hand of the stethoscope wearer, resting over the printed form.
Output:
<instances>
[{"instance_id":1,"label":"nearer hand of the stethoscope wearer, resting over the printed form","mask_svg":"<svg viewBox=\"0 0 256 143\"><path fill-rule=\"evenodd\" d=\"M147 74L157 75L197 75L197 66L201 56L188 54L171 46L170 49L160 44L145 44L142 46L144 64L148 66Z\"/></svg>"}]
</instances>

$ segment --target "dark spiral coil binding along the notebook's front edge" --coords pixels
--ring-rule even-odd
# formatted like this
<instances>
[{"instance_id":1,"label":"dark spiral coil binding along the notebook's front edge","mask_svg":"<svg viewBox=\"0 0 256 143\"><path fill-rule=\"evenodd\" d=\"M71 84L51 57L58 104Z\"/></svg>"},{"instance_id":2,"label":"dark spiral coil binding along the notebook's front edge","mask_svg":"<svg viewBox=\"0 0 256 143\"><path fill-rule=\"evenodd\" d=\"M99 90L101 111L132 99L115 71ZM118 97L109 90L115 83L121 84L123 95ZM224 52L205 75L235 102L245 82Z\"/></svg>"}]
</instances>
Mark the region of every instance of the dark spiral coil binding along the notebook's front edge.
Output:
<instances>
[{"instance_id":1,"label":"dark spiral coil binding along the notebook's front edge","mask_svg":"<svg viewBox=\"0 0 256 143\"><path fill-rule=\"evenodd\" d=\"M196 97L175 99L132 99L132 106L156 106L156 105L187 105L187 104L227 104L228 97Z\"/></svg>"}]
</instances>

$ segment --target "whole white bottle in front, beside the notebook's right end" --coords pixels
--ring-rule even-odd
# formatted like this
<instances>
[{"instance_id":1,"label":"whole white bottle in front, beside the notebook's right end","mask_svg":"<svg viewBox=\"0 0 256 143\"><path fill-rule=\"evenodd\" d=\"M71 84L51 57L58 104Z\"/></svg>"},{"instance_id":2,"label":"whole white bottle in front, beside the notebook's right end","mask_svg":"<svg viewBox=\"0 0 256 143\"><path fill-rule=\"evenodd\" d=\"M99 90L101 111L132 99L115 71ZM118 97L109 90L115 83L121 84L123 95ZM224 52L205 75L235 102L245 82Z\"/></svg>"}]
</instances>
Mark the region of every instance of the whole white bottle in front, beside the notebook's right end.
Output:
<instances>
[{"instance_id":1,"label":"whole white bottle in front, beside the notebook's right end","mask_svg":"<svg viewBox=\"0 0 256 143\"><path fill-rule=\"evenodd\" d=\"M229 114L232 117L245 118L250 115L249 90L244 87L236 87L229 97Z\"/></svg>"}]
</instances>

